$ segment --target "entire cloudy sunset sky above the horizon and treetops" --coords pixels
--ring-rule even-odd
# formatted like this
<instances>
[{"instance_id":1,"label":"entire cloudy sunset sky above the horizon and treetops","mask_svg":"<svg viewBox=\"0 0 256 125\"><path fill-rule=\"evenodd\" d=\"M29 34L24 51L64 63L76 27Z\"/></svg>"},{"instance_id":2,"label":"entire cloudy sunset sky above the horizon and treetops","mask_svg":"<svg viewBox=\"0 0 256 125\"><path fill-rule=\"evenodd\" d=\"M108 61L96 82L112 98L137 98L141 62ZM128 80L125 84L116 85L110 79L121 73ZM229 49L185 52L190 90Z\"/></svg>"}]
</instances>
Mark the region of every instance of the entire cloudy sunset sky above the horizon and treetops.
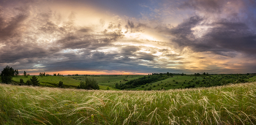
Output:
<instances>
[{"instance_id":1,"label":"entire cloudy sunset sky above the horizon and treetops","mask_svg":"<svg viewBox=\"0 0 256 125\"><path fill-rule=\"evenodd\" d=\"M20 75L256 72L255 0L1 0Z\"/></svg>"}]
</instances>

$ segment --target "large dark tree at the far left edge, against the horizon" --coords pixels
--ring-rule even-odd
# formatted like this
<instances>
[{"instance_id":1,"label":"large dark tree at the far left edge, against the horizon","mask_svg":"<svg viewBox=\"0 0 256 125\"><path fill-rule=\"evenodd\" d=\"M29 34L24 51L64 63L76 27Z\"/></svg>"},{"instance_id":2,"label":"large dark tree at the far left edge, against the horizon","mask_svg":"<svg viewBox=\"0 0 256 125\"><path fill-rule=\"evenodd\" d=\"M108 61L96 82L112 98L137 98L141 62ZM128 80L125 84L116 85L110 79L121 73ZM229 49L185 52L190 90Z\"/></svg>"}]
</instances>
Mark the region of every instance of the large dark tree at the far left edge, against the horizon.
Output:
<instances>
[{"instance_id":1,"label":"large dark tree at the far left edge, against the horizon","mask_svg":"<svg viewBox=\"0 0 256 125\"><path fill-rule=\"evenodd\" d=\"M1 71L1 82L2 83L11 83L12 77L14 77L14 69L12 67L5 67L3 71Z\"/></svg>"}]
</instances>

